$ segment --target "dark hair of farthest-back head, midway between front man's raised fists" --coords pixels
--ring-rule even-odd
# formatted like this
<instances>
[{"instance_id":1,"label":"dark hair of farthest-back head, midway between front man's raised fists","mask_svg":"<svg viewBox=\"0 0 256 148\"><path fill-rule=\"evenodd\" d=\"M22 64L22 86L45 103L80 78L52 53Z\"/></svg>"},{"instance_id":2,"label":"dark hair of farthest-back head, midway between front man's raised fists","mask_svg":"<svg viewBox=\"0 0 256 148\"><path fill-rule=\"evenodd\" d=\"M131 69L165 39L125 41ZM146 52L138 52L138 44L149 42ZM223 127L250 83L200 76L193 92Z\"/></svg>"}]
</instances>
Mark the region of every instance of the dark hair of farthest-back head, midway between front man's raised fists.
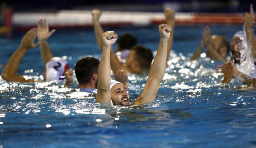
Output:
<instances>
[{"instance_id":1,"label":"dark hair of farthest-back head, midway between front man's raised fists","mask_svg":"<svg viewBox=\"0 0 256 148\"><path fill-rule=\"evenodd\" d=\"M118 40L118 46L120 50L125 50L125 49L131 49L133 46L137 44L137 40L135 36L133 36L130 33L125 33L119 37Z\"/></svg>"}]
</instances>

